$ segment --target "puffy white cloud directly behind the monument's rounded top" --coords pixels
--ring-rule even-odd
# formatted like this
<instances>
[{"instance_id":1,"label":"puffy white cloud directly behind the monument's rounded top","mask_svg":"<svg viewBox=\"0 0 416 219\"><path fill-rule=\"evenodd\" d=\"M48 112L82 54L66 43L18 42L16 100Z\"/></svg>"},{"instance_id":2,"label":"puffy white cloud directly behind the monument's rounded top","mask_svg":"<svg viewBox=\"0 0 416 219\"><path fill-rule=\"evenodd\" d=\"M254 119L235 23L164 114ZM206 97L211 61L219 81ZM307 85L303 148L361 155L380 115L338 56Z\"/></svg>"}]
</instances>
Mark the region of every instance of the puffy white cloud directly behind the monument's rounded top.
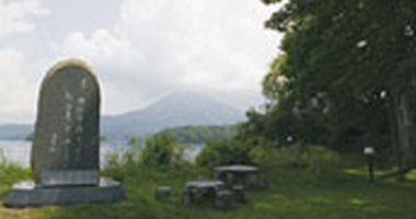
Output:
<instances>
[{"instance_id":1,"label":"puffy white cloud directly behind the monument's rounded top","mask_svg":"<svg viewBox=\"0 0 416 219\"><path fill-rule=\"evenodd\" d=\"M61 44L53 44L55 58L45 62L49 67L57 60L81 58L91 62L93 70L104 81L104 103L113 103L105 107L105 113L119 113L146 105L147 101L140 89L134 84L151 84L145 82L147 77L138 79L136 69L142 69L145 58L131 46L130 39L107 30L96 30L90 36L83 33L72 33ZM150 77L149 77L150 78ZM125 100L129 96L129 100ZM124 101L123 101L124 100Z\"/></svg>"}]
</instances>

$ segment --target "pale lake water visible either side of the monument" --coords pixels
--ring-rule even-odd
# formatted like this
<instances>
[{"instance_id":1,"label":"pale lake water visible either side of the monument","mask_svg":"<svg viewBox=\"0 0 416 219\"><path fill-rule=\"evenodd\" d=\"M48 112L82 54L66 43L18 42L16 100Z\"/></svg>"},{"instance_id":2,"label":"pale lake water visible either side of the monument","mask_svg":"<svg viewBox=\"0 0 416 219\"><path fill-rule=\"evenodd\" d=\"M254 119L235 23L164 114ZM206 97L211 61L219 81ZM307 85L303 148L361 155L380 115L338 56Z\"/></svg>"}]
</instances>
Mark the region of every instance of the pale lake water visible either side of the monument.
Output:
<instances>
[{"instance_id":1,"label":"pale lake water visible either side of the monument","mask_svg":"<svg viewBox=\"0 0 416 219\"><path fill-rule=\"evenodd\" d=\"M203 146L192 146L189 149L185 150L185 159L194 160L194 158L199 153ZM0 140L0 161L3 157L7 161L18 163L23 168L30 166L32 142L31 141L18 141L18 140ZM108 153L117 153L122 157L124 153L130 150L130 147L124 142L109 142L103 141L100 147L100 165L105 166L106 157Z\"/></svg>"}]
</instances>

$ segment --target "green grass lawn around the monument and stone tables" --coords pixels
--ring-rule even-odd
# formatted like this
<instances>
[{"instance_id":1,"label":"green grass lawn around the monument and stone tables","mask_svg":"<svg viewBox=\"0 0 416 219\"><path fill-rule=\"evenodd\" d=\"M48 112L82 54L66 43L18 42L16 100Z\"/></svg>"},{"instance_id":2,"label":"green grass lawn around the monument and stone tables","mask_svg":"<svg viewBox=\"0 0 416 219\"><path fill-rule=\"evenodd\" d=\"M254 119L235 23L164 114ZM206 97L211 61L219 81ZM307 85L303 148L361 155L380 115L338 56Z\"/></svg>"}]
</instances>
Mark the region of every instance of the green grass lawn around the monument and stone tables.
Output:
<instances>
[{"instance_id":1,"label":"green grass lawn around the monument and stone tables","mask_svg":"<svg viewBox=\"0 0 416 219\"><path fill-rule=\"evenodd\" d=\"M123 180L127 199L114 204L84 204L68 207L5 209L0 207L0 218L27 219L415 219L416 182L369 184L362 174L347 174L345 170L360 170L361 164L350 159L320 171L287 165L265 171L269 187L247 193L245 205L234 205L229 210L212 206L180 205L180 194L186 181L209 178L205 169L184 168L150 169L135 164L104 172ZM359 172L359 171L358 171ZM10 177L9 177L10 174ZM27 170L0 165L0 194L4 198L14 181L26 178ZM408 174L412 180L415 172ZM154 187L173 187L171 203L154 199Z\"/></svg>"}]
</instances>

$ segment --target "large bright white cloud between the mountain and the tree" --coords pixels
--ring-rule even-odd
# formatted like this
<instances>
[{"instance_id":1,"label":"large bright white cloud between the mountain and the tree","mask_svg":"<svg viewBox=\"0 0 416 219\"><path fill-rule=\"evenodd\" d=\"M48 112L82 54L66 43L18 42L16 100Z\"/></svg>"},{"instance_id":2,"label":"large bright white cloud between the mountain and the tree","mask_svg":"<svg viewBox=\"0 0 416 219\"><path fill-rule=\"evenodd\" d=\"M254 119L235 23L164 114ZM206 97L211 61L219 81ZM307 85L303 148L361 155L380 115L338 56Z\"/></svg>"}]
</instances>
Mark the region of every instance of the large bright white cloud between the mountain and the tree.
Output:
<instances>
[{"instance_id":1,"label":"large bright white cloud between the mountain and the tree","mask_svg":"<svg viewBox=\"0 0 416 219\"><path fill-rule=\"evenodd\" d=\"M119 30L146 54L170 59L181 84L258 90L277 48L263 28L269 13L252 0L126 0Z\"/></svg>"}]
</instances>

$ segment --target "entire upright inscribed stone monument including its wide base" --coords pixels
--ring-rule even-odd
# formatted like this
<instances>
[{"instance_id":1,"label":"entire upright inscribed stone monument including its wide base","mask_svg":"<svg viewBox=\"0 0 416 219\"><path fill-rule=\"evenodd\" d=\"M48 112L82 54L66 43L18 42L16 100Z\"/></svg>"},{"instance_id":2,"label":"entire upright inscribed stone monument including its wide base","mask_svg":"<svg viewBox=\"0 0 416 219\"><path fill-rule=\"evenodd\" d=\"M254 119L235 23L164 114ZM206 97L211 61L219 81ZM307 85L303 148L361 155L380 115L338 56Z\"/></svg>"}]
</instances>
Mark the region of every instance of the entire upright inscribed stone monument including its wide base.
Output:
<instances>
[{"instance_id":1,"label":"entire upright inscribed stone monument including its wide base","mask_svg":"<svg viewBox=\"0 0 416 219\"><path fill-rule=\"evenodd\" d=\"M117 182L99 175L100 87L83 61L58 62L42 83L31 168L34 182L15 184L5 206L124 198Z\"/></svg>"}]
</instances>

